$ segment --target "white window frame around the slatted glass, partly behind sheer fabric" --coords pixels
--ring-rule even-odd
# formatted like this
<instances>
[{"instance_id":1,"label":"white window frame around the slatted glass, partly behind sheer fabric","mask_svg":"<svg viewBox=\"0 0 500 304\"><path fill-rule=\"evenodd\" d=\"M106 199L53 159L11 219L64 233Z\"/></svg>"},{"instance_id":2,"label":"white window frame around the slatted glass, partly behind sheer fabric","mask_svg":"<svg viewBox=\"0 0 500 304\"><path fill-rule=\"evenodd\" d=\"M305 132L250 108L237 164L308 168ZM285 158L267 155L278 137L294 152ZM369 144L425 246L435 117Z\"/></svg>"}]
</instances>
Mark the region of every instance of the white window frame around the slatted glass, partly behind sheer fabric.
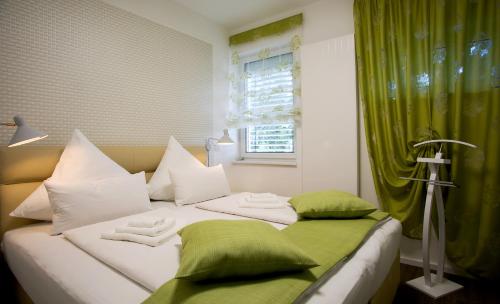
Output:
<instances>
[{"instance_id":1,"label":"white window frame around the slatted glass, partly behind sheer fabric","mask_svg":"<svg viewBox=\"0 0 500 304\"><path fill-rule=\"evenodd\" d=\"M297 58L295 52L291 51L288 46L282 46L274 49L270 49L271 55L270 57L274 56L279 56L279 55L284 55L291 53L292 58L293 58L293 64L295 64ZM258 53L254 52L251 54L248 54L246 56L240 57L240 64L239 64L239 72L243 73L245 69L245 64L258 61L260 60L258 57ZM242 82L243 84L240 86L240 90L245 91L246 93L246 84ZM294 87L295 87L295 80L294 80ZM246 94L245 94L246 95ZM296 98L293 96L293 104L296 105ZM265 159L271 159L271 160L295 160L297 159L297 125L293 123L293 152L247 152L247 128L240 128L238 131L239 134L239 142L240 142L240 159L245 160L265 160Z\"/></svg>"}]
</instances>

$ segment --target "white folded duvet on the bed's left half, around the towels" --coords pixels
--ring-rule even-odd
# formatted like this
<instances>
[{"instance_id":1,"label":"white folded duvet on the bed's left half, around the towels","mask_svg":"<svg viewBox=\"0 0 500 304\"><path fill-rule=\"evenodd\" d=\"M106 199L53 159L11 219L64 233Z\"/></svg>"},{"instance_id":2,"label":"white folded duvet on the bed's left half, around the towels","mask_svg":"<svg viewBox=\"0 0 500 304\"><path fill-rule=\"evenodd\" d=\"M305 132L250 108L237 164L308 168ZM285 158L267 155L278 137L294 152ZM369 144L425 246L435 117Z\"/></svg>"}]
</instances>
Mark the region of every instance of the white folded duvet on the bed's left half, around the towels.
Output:
<instances>
[{"instance_id":1,"label":"white folded duvet on the bed's left half, around the towels","mask_svg":"<svg viewBox=\"0 0 500 304\"><path fill-rule=\"evenodd\" d=\"M214 200L220 201L221 199ZM160 246L150 247L126 241L113 241L101 238L101 234L116 227L126 225L138 217L173 217L178 222L177 230L194 222L208 219L231 219L234 216L216 212L192 212L194 206L180 208L159 208L138 215L101 222L64 232L64 237L91 256L118 270L131 280L150 291L156 290L174 278L180 263L181 240L173 236ZM273 224L278 229L285 226Z\"/></svg>"}]
</instances>

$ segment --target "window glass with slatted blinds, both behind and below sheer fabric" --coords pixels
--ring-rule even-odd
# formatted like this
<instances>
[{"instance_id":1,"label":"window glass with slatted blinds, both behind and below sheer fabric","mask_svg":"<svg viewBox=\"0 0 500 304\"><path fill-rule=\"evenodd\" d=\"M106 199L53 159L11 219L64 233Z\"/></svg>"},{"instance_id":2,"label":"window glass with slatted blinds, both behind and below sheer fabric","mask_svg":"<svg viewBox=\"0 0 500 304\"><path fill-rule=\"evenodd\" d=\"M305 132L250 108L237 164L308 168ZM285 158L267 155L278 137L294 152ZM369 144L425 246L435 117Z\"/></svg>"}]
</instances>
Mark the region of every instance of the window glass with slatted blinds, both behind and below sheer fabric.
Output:
<instances>
[{"instance_id":1,"label":"window glass with slatted blinds, both behind and below sheer fabric","mask_svg":"<svg viewBox=\"0 0 500 304\"><path fill-rule=\"evenodd\" d=\"M272 112L293 107L293 53L288 52L244 63L244 90L248 110ZM295 125L262 124L242 130L242 157L294 158Z\"/></svg>"}]
</instances>

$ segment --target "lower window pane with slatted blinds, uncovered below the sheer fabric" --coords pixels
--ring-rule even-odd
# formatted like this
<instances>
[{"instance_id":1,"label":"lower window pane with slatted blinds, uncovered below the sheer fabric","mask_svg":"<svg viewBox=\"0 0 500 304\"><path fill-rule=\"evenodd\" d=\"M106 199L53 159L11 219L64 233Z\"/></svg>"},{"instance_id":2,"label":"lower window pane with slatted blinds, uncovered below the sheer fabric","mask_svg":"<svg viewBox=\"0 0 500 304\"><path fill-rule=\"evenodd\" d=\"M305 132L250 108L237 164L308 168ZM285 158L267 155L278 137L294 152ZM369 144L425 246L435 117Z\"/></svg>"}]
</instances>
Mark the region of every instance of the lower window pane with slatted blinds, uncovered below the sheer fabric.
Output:
<instances>
[{"instance_id":1,"label":"lower window pane with slatted blinds, uncovered below the sheer fabric","mask_svg":"<svg viewBox=\"0 0 500 304\"><path fill-rule=\"evenodd\" d=\"M293 153L293 124L274 124L246 129L247 153Z\"/></svg>"}]
</instances>

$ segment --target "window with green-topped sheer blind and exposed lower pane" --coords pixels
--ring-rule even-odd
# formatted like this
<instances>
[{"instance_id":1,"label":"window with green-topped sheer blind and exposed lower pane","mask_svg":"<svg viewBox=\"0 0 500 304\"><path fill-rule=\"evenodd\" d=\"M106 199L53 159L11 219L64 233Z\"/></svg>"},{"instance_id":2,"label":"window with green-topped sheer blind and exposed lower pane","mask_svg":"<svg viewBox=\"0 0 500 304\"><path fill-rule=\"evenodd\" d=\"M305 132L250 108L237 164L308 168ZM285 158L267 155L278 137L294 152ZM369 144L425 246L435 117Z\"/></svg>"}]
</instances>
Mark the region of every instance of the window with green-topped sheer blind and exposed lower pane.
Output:
<instances>
[{"instance_id":1,"label":"window with green-topped sheer blind and exposed lower pane","mask_svg":"<svg viewBox=\"0 0 500 304\"><path fill-rule=\"evenodd\" d=\"M294 157L301 117L301 24L299 14L230 38L226 125L241 130L242 158Z\"/></svg>"}]
</instances>

